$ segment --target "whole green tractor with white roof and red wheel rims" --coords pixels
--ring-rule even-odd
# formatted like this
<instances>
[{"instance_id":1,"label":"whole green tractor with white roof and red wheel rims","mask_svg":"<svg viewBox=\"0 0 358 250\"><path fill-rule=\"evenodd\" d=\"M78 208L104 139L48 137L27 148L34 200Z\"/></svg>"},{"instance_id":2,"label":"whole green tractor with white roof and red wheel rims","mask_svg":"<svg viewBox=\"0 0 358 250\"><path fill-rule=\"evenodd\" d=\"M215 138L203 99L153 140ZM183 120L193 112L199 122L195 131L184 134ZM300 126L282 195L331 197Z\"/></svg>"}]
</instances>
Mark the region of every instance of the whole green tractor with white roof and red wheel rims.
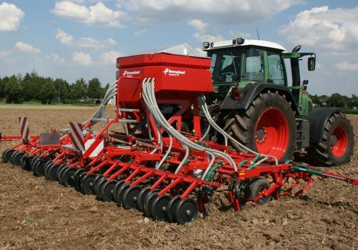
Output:
<instances>
[{"instance_id":1,"label":"whole green tractor with white roof and red wheel rims","mask_svg":"<svg viewBox=\"0 0 358 250\"><path fill-rule=\"evenodd\" d=\"M300 47L284 52L277 43L242 38L204 42L212 59L214 93L207 96L212 116L246 148L281 162L303 153L315 164L346 163L353 152L353 128L339 108L314 108L308 80L300 80L299 61L309 56L313 71L316 54L299 52ZM291 63L292 86L285 59ZM222 143L220 134L210 136Z\"/></svg>"}]
</instances>

